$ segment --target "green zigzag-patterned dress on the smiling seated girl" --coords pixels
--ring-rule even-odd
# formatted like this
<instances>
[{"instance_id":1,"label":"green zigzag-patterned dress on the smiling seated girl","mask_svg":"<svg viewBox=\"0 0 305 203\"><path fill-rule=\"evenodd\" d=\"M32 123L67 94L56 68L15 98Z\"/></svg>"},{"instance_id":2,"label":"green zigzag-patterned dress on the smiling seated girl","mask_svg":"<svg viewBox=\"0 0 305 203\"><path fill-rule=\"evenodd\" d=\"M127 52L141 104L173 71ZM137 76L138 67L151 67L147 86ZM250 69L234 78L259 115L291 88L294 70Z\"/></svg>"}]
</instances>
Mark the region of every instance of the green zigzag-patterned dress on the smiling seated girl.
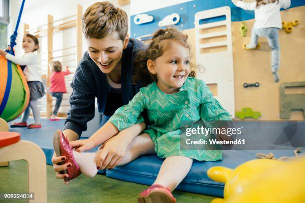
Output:
<instances>
[{"instance_id":1,"label":"green zigzag-patterned dress on the smiling seated girl","mask_svg":"<svg viewBox=\"0 0 305 203\"><path fill-rule=\"evenodd\" d=\"M120 131L143 122L141 112L148 110L150 129L145 130L154 142L158 157L186 156L199 161L222 159L221 150L180 150L181 121L230 120L230 114L213 98L206 84L188 77L175 94L165 94L155 82L135 95L132 101L116 110L109 119Z\"/></svg>"}]
</instances>

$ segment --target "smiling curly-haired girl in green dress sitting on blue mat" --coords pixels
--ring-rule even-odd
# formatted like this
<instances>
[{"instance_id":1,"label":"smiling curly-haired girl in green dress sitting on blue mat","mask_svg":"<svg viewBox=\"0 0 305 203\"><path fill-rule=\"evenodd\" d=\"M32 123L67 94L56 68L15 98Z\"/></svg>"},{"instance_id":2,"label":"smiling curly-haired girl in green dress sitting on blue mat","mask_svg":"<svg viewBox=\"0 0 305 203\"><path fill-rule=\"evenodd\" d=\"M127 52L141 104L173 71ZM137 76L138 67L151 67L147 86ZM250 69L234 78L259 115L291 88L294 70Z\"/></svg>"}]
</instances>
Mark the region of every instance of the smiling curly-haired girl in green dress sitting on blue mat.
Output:
<instances>
[{"instance_id":1,"label":"smiling curly-haired girl in green dress sitting on blue mat","mask_svg":"<svg viewBox=\"0 0 305 203\"><path fill-rule=\"evenodd\" d=\"M99 135L94 134L88 140L70 142L72 147L78 148L77 151L91 149L104 143L105 137L112 137L135 123L142 123L144 119L141 113L147 109L150 126L144 133L149 134L150 144L146 146L153 148L164 161L153 185L139 195L140 203L175 202L171 191L188 174L193 159L222 159L222 152L217 150L180 150L181 121L231 119L230 114L213 98L205 83L189 77L194 76L189 61L187 35L173 27L156 31L148 49L138 53L135 64L139 68L135 81L142 80L148 86L140 89L127 105L117 109L100 129ZM131 140L116 144L120 147L124 145L124 154L130 143ZM98 169L127 163L124 158L115 157L105 163L109 154L103 150L93 155ZM82 166L80 168L82 170Z\"/></svg>"}]
</instances>

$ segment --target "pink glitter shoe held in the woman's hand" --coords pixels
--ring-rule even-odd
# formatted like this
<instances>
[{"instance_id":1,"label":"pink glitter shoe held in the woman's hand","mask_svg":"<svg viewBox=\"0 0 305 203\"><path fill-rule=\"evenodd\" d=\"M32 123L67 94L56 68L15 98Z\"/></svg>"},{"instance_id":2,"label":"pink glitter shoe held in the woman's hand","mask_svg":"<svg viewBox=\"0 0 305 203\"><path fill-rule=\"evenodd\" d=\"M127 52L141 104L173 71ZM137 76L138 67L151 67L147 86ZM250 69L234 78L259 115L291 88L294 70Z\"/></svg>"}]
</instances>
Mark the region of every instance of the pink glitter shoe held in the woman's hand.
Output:
<instances>
[{"instance_id":1,"label":"pink glitter shoe held in the woman's hand","mask_svg":"<svg viewBox=\"0 0 305 203\"><path fill-rule=\"evenodd\" d=\"M62 174L68 174L68 178L64 178L65 181L71 181L78 177L81 174L81 171L79 169L79 166L77 162L75 161L72 153L72 149L69 145L68 140L64 136L64 134L60 130L56 130L53 135L53 147L56 156L65 156L66 160L64 163L70 162L72 166L68 168L67 170L64 170L61 172Z\"/></svg>"}]
</instances>

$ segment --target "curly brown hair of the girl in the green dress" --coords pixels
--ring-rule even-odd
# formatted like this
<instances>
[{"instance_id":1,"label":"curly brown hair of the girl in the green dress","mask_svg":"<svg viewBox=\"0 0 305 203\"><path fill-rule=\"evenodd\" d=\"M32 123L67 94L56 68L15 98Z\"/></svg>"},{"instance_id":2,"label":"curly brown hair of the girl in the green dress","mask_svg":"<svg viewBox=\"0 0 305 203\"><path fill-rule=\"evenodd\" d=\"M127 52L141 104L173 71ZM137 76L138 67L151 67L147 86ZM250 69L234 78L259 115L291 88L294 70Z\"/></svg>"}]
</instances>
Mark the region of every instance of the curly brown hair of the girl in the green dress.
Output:
<instances>
[{"instance_id":1,"label":"curly brown hair of the girl in the green dress","mask_svg":"<svg viewBox=\"0 0 305 203\"><path fill-rule=\"evenodd\" d=\"M152 42L146 50L138 52L134 67L135 74L133 76L133 83L141 82L143 87L148 86L152 82L156 81L156 76L151 74L147 68L147 61L151 59L152 61L163 55L166 46L161 45L164 40L177 40L182 43L189 51L191 46L187 43L187 35L182 34L175 27L167 27L165 29L158 29L152 35ZM189 73L190 77L195 77L195 72L191 71Z\"/></svg>"}]
</instances>

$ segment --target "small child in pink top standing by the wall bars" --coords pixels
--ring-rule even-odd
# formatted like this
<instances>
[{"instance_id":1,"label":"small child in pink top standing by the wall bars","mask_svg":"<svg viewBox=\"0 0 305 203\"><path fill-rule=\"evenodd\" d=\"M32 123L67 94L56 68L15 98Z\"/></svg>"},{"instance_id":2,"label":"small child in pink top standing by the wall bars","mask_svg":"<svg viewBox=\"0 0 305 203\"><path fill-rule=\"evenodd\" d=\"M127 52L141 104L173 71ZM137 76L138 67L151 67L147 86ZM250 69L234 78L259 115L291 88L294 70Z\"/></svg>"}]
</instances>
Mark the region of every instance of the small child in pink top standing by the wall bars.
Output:
<instances>
[{"instance_id":1,"label":"small child in pink top standing by the wall bars","mask_svg":"<svg viewBox=\"0 0 305 203\"><path fill-rule=\"evenodd\" d=\"M55 118L57 116L58 109L60 107L60 104L62 102L62 96L64 93L67 92L66 84L65 84L65 76L70 74L70 71L68 69L68 66L66 67L66 71L61 71L62 66L59 61L51 61L50 64L50 70L52 72L50 77L50 90L49 93L52 97L56 98L56 103L54 110L51 115L51 121L59 120Z\"/></svg>"}]
</instances>

